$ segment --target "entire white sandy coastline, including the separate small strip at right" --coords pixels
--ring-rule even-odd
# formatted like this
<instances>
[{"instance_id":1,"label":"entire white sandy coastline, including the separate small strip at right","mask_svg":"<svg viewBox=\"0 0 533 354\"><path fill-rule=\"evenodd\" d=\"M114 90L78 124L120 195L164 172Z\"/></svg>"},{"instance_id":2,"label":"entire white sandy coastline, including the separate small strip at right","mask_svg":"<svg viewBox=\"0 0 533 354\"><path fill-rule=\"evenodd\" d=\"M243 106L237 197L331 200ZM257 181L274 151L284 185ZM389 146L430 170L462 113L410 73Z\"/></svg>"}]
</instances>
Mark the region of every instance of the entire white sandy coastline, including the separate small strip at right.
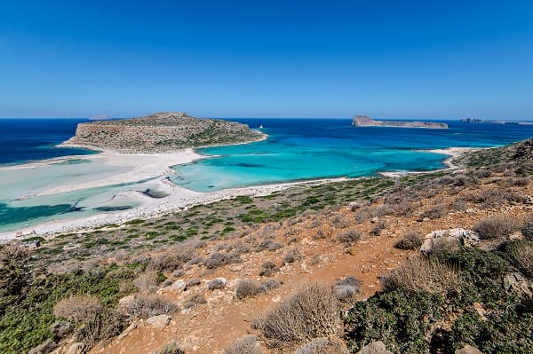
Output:
<instances>
[{"instance_id":1,"label":"entire white sandy coastline, including the separate small strip at right","mask_svg":"<svg viewBox=\"0 0 533 354\"><path fill-rule=\"evenodd\" d=\"M465 153L465 151L472 150L475 150L475 148L450 147L447 149L425 150L425 152L442 153L448 155L449 157L443 161L447 166L446 169L413 172L378 172L378 174L383 177L402 177L414 174L425 174L440 170L457 169L457 166L453 164L452 160L460 156L462 153ZM155 184L157 190L168 195L164 198L151 198L147 195L139 193L136 190L130 190L122 194L127 194L131 199L138 201L139 205L136 207L107 214L100 213L81 218L77 217L52 220L42 224L23 227L16 231L0 232L0 240L15 239L16 235L20 234L20 232L22 232L23 236L41 235L53 237L53 234L56 233L79 232L94 227L101 227L105 224L121 224L134 218L154 217L172 211L187 209L198 204L207 204L214 201L235 198L239 195L267 195L269 193L290 188L294 185L319 185L349 179L347 177L324 178L274 185L255 185L241 188L230 188L221 191L200 193L188 190L179 185L174 185L168 180L168 176L173 173L173 171L170 169L172 166L208 158L207 156L195 153L195 150L192 148L174 153L118 153L104 149L99 149L99 151L101 153L94 155L68 156L66 158L51 159L49 161L32 162L27 165L6 167L5 169L24 169L32 166L43 166L50 164L52 161L68 161L80 158L80 156L82 156L84 159L91 161L104 161L112 166L126 166L130 170L127 172L117 173L116 175L106 177L105 179L95 180L87 183L61 185L60 187L47 189L43 192L37 193L36 195L41 196L47 194L71 192L78 189L91 188L101 185L138 182L143 179L150 179L150 183L152 185Z\"/></svg>"}]
</instances>

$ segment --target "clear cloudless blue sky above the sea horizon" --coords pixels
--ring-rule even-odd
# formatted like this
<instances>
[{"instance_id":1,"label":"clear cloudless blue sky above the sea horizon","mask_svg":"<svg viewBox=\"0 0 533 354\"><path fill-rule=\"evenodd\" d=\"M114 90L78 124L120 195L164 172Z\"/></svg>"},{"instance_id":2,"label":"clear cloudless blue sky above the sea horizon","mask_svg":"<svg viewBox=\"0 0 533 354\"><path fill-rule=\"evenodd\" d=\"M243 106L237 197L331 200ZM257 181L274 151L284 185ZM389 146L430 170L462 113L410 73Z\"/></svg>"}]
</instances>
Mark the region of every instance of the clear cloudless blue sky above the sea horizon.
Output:
<instances>
[{"instance_id":1,"label":"clear cloudless blue sky above the sea horizon","mask_svg":"<svg viewBox=\"0 0 533 354\"><path fill-rule=\"evenodd\" d=\"M162 110L533 120L533 2L0 2L0 117Z\"/></svg>"}]
</instances>

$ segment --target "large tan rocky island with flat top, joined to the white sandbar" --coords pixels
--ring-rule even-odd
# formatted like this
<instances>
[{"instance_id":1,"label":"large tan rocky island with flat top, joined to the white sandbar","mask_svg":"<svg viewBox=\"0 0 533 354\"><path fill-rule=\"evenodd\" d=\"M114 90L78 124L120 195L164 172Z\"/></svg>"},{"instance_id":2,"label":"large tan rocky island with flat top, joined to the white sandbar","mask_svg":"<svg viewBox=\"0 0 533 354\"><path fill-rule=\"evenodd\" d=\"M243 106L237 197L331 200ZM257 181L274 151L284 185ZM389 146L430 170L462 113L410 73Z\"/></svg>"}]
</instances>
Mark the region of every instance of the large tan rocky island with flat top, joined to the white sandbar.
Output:
<instances>
[{"instance_id":1,"label":"large tan rocky island with flat top, joined to the white sandbar","mask_svg":"<svg viewBox=\"0 0 533 354\"><path fill-rule=\"evenodd\" d=\"M265 136L248 125L161 112L133 119L79 123L63 146L91 146L121 153L164 153L187 147L241 144Z\"/></svg>"}]
</instances>

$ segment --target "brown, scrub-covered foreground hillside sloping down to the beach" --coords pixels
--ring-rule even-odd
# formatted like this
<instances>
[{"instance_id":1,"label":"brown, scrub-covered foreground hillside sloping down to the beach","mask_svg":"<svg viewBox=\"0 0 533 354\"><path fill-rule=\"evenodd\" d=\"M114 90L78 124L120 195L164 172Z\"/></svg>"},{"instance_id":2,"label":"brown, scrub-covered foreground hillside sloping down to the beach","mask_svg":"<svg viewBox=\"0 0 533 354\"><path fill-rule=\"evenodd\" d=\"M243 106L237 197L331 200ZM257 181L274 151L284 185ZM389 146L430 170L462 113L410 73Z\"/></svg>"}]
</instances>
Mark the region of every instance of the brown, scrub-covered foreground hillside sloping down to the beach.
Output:
<instances>
[{"instance_id":1,"label":"brown, scrub-covered foreground hillside sloping down to the beach","mask_svg":"<svg viewBox=\"0 0 533 354\"><path fill-rule=\"evenodd\" d=\"M3 246L0 351L533 352L532 152Z\"/></svg>"}]
</instances>

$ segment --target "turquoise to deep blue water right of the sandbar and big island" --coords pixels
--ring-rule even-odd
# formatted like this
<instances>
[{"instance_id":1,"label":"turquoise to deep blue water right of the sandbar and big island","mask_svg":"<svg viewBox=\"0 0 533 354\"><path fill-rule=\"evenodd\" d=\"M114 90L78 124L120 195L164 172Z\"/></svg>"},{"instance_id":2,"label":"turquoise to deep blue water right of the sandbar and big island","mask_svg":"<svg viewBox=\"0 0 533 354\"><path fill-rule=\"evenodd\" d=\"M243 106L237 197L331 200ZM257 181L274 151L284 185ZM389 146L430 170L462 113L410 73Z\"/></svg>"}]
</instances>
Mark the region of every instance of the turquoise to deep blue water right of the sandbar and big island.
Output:
<instances>
[{"instance_id":1,"label":"turquoise to deep blue water right of the sandbar and big island","mask_svg":"<svg viewBox=\"0 0 533 354\"><path fill-rule=\"evenodd\" d=\"M199 149L209 158L174 169L171 181L197 192L379 171L441 169L436 148L501 146L533 136L531 125L463 124L448 130L352 127L350 120L239 120L269 135L266 141Z\"/></svg>"}]
</instances>

